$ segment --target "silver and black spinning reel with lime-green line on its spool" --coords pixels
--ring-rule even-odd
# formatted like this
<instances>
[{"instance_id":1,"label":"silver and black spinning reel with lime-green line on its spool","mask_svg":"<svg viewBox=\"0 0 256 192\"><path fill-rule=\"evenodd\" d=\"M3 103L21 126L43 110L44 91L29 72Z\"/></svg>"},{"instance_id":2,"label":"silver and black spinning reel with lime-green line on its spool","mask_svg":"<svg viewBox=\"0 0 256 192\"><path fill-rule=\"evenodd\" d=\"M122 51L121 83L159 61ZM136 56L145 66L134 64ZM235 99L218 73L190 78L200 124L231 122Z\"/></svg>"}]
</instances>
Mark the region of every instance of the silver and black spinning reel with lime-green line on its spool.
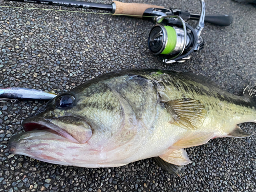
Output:
<instances>
[{"instance_id":1,"label":"silver and black spinning reel with lime-green line on its spool","mask_svg":"<svg viewBox=\"0 0 256 192\"><path fill-rule=\"evenodd\" d=\"M159 15L154 18L155 26L148 37L148 46L155 55L165 55L165 63L184 62L190 58L193 51L199 51L204 46L201 32L204 28L205 3L200 0L201 14L194 29L184 19L190 14L180 10L147 9L144 14ZM179 16L180 15L180 16ZM183 18L182 18L183 17Z\"/></svg>"}]
</instances>

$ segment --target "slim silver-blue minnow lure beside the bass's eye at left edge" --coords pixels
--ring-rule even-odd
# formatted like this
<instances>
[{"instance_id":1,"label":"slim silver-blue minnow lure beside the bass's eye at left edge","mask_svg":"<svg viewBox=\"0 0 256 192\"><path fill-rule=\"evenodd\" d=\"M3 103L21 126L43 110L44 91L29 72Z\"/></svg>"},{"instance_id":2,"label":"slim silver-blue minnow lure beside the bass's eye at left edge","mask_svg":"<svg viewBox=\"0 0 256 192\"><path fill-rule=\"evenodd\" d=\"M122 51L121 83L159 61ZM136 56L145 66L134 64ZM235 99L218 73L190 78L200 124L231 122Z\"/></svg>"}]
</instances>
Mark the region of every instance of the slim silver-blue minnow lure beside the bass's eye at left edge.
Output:
<instances>
[{"instance_id":1,"label":"slim silver-blue minnow lure beside the bass's eye at left edge","mask_svg":"<svg viewBox=\"0 0 256 192\"><path fill-rule=\"evenodd\" d=\"M57 95L41 90L27 89L27 88L0 88L0 102L16 102L19 99L42 99L50 100Z\"/></svg>"}]
</instances>

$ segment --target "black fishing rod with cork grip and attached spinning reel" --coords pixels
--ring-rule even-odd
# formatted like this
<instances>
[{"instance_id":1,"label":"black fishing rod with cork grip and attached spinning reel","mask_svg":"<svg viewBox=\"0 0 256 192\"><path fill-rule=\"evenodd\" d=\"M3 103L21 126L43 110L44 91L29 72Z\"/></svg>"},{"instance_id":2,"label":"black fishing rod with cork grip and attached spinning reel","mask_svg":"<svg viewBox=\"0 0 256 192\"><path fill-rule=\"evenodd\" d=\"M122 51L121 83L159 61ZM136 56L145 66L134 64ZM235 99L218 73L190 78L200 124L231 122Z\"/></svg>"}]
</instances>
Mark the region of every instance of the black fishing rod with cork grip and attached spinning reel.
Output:
<instances>
[{"instance_id":1,"label":"black fishing rod with cork grip and attached spinning reel","mask_svg":"<svg viewBox=\"0 0 256 192\"><path fill-rule=\"evenodd\" d=\"M82 9L109 11L113 15L126 15L140 18L153 18L155 26L148 37L148 46L155 55L164 55L165 63L184 62L190 54L204 46L201 32L204 22L218 26L229 26L232 17L229 15L205 15L205 2L200 0L201 13L194 14L179 9L166 9L162 6L122 3L113 1L111 4L99 4L74 0L6 0L41 5L65 6ZM186 21L198 20L195 28Z\"/></svg>"}]
</instances>

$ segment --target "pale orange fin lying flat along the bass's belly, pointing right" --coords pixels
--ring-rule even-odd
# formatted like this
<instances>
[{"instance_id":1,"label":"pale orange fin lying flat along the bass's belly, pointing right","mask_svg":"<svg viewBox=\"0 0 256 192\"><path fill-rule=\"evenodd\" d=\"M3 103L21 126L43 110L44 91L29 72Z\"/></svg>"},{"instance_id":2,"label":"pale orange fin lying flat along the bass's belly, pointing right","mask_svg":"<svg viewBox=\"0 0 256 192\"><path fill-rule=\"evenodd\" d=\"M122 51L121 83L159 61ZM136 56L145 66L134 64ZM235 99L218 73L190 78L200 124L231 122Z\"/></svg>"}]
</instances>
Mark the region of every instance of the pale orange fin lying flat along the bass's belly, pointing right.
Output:
<instances>
[{"instance_id":1,"label":"pale orange fin lying flat along the bass's belly, pointing right","mask_svg":"<svg viewBox=\"0 0 256 192\"><path fill-rule=\"evenodd\" d=\"M207 143L211 138L214 138L214 136L214 133L192 132L188 134L186 137L183 137L182 139L174 143L174 145L171 148L187 148L192 146L203 145Z\"/></svg>"}]
</instances>

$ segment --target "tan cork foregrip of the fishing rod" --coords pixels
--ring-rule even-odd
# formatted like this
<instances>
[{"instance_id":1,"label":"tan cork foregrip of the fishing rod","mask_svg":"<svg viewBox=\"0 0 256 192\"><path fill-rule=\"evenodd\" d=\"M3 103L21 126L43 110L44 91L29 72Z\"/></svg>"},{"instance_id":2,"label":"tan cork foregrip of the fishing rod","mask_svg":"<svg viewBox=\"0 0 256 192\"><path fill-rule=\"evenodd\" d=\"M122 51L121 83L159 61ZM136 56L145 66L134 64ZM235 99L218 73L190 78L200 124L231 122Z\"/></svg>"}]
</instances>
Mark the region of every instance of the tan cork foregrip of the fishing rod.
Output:
<instances>
[{"instance_id":1,"label":"tan cork foregrip of the fishing rod","mask_svg":"<svg viewBox=\"0 0 256 192\"><path fill-rule=\"evenodd\" d=\"M162 6L149 5L149 4L137 4L137 3L122 3L118 1L112 2L114 14L125 14L125 15L143 15L148 8L159 8L164 9Z\"/></svg>"}]
</instances>

